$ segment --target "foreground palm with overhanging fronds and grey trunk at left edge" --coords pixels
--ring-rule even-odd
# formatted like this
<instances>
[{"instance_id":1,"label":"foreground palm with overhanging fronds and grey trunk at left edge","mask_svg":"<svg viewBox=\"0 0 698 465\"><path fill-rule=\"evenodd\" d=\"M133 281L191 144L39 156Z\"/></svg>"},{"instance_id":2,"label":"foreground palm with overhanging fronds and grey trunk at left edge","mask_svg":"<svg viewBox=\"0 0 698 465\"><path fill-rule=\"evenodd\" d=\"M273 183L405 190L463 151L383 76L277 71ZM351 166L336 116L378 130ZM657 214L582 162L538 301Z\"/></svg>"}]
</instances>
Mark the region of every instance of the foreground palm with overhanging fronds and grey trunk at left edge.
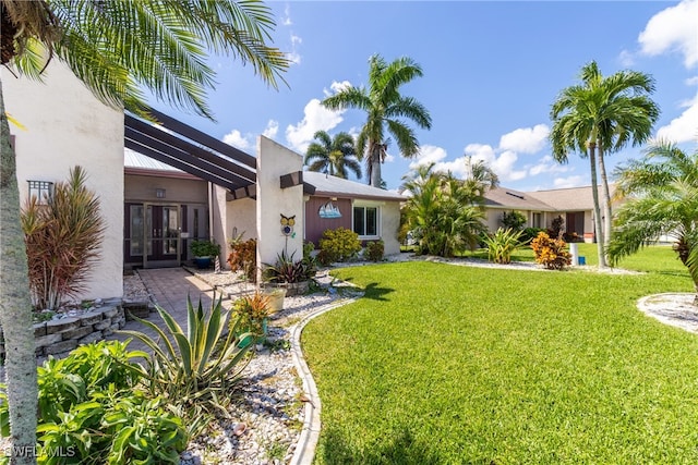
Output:
<instances>
[{"instance_id":1,"label":"foreground palm with overhanging fronds and grey trunk at left edge","mask_svg":"<svg viewBox=\"0 0 698 465\"><path fill-rule=\"evenodd\" d=\"M143 88L213 118L206 105L215 71L208 51L251 64L276 87L286 56L267 45L274 20L257 1L0 0L0 63L38 76L47 59L64 61L103 102L147 112ZM36 444L36 362L27 258L20 225L15 154L0 87L0 325L12 443ZM29 456L12 463L36 463Z\"/></svg>"}]
</instances>

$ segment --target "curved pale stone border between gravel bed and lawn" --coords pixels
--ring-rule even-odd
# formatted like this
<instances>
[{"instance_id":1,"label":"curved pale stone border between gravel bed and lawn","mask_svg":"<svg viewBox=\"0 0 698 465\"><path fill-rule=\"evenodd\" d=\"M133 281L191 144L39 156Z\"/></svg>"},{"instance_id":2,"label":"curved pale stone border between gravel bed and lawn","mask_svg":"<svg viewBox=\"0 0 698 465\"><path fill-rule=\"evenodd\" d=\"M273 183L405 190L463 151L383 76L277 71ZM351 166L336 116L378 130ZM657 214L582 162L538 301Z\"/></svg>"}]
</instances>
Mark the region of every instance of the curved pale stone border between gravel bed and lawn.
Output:
<instances>
[{"instance_id":1,"label":"curved pale stone border between gravel bed and lawn","mask_svg":"<svg viewBox=\"0 0 698 465\"><path fill-rule=\"evenodd\" d=\"M310 368L303 357L303 351L301 348L301 333L313 318L318 317L329 310L352 304L357 302L360 296L351 297L341 301L335 301L327 304L324 307L320 307L316 310L306 315L301 321L299 321L291 331L291 351L293 352L293 364L298 370L298 376L303 381L303 392L308 395L309 400L304 406L304 419L301 436L296 444L296 451L291 457L291 465L310 465L315 456L315 448L317 446L317 440L320 439L320 429L322 426L320 419L321 402L317 393L317 386L313 379L313 375L310 372Z\"/></svg>"}]
</instances>

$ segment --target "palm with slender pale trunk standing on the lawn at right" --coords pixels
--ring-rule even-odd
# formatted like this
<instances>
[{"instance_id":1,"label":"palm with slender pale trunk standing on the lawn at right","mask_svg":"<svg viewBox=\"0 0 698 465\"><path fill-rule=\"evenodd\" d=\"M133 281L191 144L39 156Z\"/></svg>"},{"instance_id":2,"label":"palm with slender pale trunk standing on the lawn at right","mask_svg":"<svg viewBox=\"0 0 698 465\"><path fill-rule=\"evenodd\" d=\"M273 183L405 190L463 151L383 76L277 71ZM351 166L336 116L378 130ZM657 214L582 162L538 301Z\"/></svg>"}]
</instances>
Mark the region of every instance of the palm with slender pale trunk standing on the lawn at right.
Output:
<instances>
[{"instance_id":1,"label":"palm with slender pale trunk standing on the lawn at right","mask_svg":"<svg viewBox=\"0 0 698 465\"><path fill-rule=\"evenodd\" d=\"M592 61L581 69L580 78L580 85L563 89L553 103L550 137L553 157L561 163L567 162L568 151L578 150L582 157L589 156L599 267L604 268L604 245L611 237L613 213L604 151L621 150L629 142L634 146L643 144L659 118L659 108L648 97L654 91L654 79L645 73L621 71L603 77L598 64ZM603 215L599 201L597 156L603 191Z\"/></svg>"}]
</instances>

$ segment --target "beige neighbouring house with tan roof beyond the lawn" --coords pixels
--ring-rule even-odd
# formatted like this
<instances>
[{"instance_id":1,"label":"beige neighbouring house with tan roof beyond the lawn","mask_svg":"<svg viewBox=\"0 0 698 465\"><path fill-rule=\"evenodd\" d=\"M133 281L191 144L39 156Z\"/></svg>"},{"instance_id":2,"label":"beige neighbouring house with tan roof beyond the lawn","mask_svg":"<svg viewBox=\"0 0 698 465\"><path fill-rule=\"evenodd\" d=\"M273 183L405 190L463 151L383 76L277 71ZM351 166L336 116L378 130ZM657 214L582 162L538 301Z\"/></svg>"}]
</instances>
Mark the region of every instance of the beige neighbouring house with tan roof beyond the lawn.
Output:
<instances>
[{"instance_id":1,"label":"beige neighbouring house with tan roof beyond the lawn","mask_svg":"<svg viewBox=\"0 0 698 465\"><path fill-rule=\"evenodd\" d=\"M609 186L613 197L614 186ZM601 186L599 186L601 195ZM601 200L601 198L600 198ZM488 229L502 227L503 213L518 211L531 228L550 228L552 221L562 217L564 231L576 233L585 242L594 242L593 194L591 186L557 188L550 191L519 192L497 187L485 194Z\"/></svg>"}]
</instances>

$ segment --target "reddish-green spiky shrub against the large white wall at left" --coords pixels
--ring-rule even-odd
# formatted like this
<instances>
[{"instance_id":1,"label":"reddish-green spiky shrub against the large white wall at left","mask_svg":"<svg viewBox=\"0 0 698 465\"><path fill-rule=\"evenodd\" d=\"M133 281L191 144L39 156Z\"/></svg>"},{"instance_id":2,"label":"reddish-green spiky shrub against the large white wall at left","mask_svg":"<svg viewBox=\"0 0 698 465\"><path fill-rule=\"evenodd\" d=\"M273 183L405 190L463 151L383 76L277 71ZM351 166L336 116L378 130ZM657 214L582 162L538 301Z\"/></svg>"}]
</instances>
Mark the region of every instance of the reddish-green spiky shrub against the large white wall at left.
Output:
<instances>
[{"instance_id":1,"label":"reddish-green spiky shrub against the large white wall at left","mask_svg":"<svg viewBox=\"0 0 698 465\"><path fill-rule=\"evenodd\" d=\"M56 184L52 197L32 197L22 210L35 308L53 310L83 292L99 257L105 223L99 198L86 187L86 180L87 173L77 166L67 182Z\"/></svg>"}]
</instances>

